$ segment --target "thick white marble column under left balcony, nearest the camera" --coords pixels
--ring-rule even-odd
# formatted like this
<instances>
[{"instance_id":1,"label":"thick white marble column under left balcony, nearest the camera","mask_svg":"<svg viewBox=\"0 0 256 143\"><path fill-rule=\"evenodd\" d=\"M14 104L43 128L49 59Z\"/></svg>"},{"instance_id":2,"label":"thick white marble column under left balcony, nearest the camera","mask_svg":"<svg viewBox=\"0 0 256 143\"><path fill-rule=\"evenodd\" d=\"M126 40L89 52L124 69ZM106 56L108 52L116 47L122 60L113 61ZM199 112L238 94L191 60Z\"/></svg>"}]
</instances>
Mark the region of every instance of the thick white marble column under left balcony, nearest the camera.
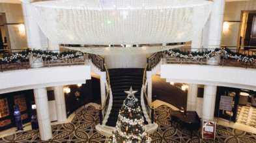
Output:
<instances>
[{"instance_id":1,"label":"thick white marble column under left balcony, nearest the camera","mask_svg":"<svg viewBox=\"0 0 256 143\"><path fill-rule=\"evenodd\" d=\"M49 140L52 137L52 133L47 90L46 88L34 89L34 95L40 138L41 140Z\"/></svg>"}]
</instances>

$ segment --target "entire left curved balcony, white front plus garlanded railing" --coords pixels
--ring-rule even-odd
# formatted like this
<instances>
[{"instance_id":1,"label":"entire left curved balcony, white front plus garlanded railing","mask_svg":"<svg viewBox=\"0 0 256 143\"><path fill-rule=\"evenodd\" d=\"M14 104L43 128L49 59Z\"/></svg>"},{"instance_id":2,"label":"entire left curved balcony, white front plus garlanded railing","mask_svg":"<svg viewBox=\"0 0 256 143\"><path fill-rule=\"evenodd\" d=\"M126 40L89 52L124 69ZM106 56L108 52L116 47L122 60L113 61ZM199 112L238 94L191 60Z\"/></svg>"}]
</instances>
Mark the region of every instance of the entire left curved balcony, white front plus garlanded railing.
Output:
<instances>
[{"instance_id":1,"label":"entire left curved balcony, white front plus garlanded railing","mask_svg":"<svg viewBox=\"0 0 256 143\"><path fill-rule=\"evenodd\" d=\"M102 69L104 60L100 56L74 51L58 54L53 51L27 51L27 49L16 52L2 50L0 94L85 83L85 80L91 79L89 63L94 63L98 69Z\"/></svg>"}]
</instances>

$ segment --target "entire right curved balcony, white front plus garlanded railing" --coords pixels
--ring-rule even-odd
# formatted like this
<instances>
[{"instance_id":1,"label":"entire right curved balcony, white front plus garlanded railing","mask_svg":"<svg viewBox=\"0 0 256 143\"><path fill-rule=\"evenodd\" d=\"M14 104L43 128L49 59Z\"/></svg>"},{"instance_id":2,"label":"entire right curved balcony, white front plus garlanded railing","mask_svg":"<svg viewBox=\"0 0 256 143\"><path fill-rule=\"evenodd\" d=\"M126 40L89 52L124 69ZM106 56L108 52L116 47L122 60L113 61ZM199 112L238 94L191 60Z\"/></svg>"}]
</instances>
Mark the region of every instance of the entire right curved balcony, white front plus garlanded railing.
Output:
<instances>
[{"instance_id":1,"label":"entire right curved balcony, white front plus garlanded railing","mask_svg":"<svg viewBox=\"0 0 256 143\"><path fill-rule=\"evenodd\" d=\"M253 50L173 49L165 52L161 78L166 82L220 85L256 90L255 56ZM208 55L206 55L208 54ZM206 56L205 56L206 55Z\"/></svg>"}]
</instances>

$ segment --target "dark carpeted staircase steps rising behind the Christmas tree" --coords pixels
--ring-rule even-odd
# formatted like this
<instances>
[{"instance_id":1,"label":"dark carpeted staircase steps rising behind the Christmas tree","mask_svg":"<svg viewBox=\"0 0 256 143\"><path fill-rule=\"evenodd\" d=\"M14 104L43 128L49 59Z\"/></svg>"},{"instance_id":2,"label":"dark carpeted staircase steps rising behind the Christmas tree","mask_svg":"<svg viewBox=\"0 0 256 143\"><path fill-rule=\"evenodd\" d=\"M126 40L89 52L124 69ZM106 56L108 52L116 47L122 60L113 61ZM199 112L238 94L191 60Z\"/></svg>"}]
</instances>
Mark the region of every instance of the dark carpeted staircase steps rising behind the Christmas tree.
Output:
<instances>
[{"instance_id":1,"label":"dark carpeted staircase steps rising behind the Christmas tree","mask_svg":"<svg viewBox=\"0 0 256 143\"><path fill-rule=\"evenodd\" d=\"M115 127L119 109L121 109L123 101L128 95L124 91L129 91L132 86L132 89L137 91L134 95L140 103L143 69L109 69L109 77L111 79L110 85L113 93L113 105L109 118L107 118L106 126ZM147 120L144 123L148 124Z\"/></svg>"}]
</instances>

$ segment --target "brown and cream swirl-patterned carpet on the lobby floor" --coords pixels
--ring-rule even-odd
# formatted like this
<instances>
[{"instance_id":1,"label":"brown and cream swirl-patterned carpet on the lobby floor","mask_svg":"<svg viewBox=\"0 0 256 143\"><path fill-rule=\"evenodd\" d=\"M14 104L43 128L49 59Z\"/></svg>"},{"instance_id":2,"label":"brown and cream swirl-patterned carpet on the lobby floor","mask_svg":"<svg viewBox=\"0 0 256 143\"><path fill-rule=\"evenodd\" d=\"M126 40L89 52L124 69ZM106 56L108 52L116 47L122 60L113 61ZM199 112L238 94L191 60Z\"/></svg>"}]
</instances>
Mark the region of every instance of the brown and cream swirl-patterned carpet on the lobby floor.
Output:
<instances>
[{"instance_id":1,"label":"brown and cream swirl-patterned carpet on the lobby floor","mask_svg":"<svg viewBox=\"0 0 256 143\"><path fill-rule=\"evenodd\" d=\"M171 108L161 105L156 109L155 118L159 124L158 130L150 135L152 143L176 143L176 142L227 142L227 143L255 143L256 135L247 133L231 127L216 126L216 140L202 140L198 137L199 131L193 132L190 138L190 131L181 128L175 123L171 127L169 122ZM80 111L71 123L52 126L53 138L42 141L38 137L38 130L24 131L22 133L0 138L0 142L84 142L100 143L107 142L107 137L96 132L95 126L98 124L98 110L93 106L86 107Z\"/></svg>"}]
</instances>

